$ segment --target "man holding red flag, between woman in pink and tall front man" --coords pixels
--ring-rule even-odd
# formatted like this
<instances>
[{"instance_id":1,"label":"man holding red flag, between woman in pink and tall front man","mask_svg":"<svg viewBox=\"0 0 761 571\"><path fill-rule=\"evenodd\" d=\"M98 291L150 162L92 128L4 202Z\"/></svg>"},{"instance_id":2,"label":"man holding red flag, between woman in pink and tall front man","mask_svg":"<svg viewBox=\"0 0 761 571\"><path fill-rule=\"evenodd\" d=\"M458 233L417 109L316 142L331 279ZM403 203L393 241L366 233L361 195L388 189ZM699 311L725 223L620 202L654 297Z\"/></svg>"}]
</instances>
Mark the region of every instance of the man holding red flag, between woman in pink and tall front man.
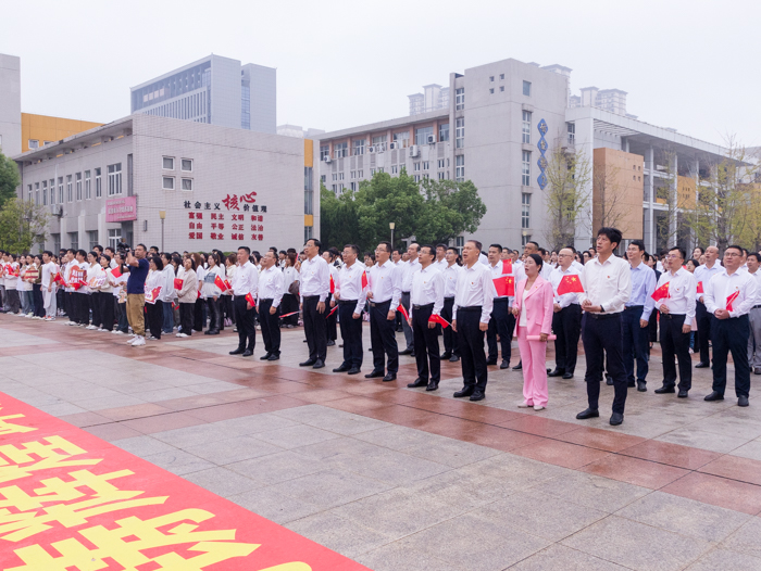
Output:
<instances>
[{"instance_id":1,"label":"man holding red flag, between woman in pink and tall front man","mask_svg":"<svg viewBox=\"0 0 761 571\"><path fill-rule=\"evenodd\" d=\"M578 337L582 332L582 306L578 304L577 293L558 295L558 286L565 276L578 276L578 270L572 265L573 251L567 248L558 252L558 263L560 265L550 274L550 283L554 292L552 331L557 337L554 370L547 376L573 379L578 355Z\"/></svg>"}]
</instances>

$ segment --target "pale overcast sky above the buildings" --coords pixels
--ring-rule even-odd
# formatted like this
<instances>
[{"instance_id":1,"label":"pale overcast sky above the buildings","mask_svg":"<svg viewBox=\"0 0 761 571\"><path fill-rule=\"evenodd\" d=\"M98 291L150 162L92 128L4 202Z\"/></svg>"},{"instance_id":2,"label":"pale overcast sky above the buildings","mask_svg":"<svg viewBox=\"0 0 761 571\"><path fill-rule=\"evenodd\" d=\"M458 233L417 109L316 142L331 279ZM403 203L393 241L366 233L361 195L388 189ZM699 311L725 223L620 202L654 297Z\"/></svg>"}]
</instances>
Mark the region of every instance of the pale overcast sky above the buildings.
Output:
<instances>
[{"instance_id":1,"label":"pale overcast sky above the buildings","mask_svg":"<svg viewBox=\"0 0 761 571\"><path fill-rule=\"evenodd\" d=\"M450 72L514 58L628 92L641 120L761 144L758 2L479 0L0 2L22 111L108 123L129 87L216 53L277 68L277 123L335 130L400 117Z\"/></svg>"}]
</instances>

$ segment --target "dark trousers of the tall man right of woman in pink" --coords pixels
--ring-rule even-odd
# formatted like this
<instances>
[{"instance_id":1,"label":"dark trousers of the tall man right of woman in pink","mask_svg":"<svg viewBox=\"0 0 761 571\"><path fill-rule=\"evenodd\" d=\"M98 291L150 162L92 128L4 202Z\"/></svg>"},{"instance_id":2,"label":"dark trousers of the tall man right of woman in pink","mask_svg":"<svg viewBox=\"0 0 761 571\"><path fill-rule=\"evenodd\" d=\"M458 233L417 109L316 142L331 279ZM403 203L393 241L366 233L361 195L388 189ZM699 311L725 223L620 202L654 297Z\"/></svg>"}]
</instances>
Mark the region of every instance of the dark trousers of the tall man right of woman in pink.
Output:
<instances>
[{"instance_id":1,"label":"dark trousers of the tall man right of woman in pink","mask_svg":"<svg viewBox=\"0 0 761 571\"><path fill-rule=\"evenodd\" d=\"M613 413L624 414L626 405L626 371L624 370L621 342L621 314L586 314L582 318L582 343L587 358L587 398L589 408L599 408L600 380L602 379L603 355L608 357L608 373L613 377Z\"/></svg>"}]
</instances>

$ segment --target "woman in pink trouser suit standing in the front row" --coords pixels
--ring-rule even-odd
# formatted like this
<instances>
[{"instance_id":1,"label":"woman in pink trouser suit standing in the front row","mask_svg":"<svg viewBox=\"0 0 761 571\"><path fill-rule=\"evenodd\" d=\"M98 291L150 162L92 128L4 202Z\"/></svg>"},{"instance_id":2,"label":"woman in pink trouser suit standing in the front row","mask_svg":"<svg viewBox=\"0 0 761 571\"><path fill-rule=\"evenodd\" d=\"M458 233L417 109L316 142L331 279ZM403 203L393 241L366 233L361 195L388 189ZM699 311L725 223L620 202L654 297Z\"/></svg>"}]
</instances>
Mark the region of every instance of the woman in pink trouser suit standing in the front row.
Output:
<instances>
[{"instance_id":1,"label":"woman in pink trouser suit standing in the front row","mask_svg":"<svg viewBox=\"0 0 761 571\"><path fill-rule=\"evenodd\" d=\"M525 280L519 282L513 302L517 346L523 361L523 404L521 408L542 410L547 406L547 338L552 326L552 284L539 276L542 261L531 254L524 262ZM537 335L539 341L528 341Z\"/></svg>"}]
</instances>

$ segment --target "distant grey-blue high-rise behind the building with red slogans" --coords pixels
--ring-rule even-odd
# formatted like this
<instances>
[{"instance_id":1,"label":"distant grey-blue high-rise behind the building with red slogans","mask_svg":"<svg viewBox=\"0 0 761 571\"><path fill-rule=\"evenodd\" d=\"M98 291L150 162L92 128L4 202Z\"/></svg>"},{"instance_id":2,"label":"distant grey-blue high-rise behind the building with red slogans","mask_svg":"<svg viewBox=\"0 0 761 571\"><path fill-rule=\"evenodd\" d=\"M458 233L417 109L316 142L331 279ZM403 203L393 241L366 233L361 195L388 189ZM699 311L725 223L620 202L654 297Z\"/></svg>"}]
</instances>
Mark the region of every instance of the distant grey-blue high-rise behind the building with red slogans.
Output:
<instances>
[{"instance_id":1,"label":"distant grey-blue high-rise behind the building with red slogans","mask_svg":"<svg viewBox=\"0 0 761 571\"><path fill-rule=\"evenodd\" d=\"M132 113L274 134L276 73L212 54L133 87Z\"/></svg>"}]
</instances>

